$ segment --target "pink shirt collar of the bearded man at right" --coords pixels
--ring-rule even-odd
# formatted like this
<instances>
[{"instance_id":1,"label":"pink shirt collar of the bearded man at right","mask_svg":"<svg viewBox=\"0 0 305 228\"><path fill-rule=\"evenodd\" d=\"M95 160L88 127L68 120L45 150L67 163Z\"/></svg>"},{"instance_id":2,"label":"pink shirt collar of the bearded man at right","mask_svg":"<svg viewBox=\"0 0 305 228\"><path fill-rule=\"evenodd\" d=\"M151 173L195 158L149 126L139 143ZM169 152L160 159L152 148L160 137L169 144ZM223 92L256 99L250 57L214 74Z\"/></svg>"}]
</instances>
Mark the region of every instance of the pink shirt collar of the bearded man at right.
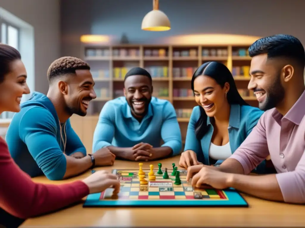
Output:
<instances>
[{"instance_id":1,"label":"pink shirt collar of the bearded man at right","mask_svg":"<svg viewBox=\"0 0 305 228\"><path fill-rule=\"evenodd\" d=\"M302 93L300 98L294 103L294 105L289 109L285 116L278 112L277 109L274 109L272 112L272 117L275 120L281 120L282 118L288 119L292 123L299 125L301 120L305 115L305 91Z\"/></svg>"}]
</instances>

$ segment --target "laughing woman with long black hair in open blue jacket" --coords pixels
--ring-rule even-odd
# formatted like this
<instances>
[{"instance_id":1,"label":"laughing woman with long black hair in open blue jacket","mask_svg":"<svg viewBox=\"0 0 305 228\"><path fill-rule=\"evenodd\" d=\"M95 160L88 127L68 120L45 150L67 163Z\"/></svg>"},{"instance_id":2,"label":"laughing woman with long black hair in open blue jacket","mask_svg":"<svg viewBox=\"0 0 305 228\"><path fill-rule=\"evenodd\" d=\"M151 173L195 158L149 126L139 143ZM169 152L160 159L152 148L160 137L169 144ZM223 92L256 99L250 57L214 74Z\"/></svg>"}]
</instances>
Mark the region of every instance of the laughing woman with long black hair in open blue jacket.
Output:
<instances>
[{"instance_id":1,"label":"laughing woman with long black hair in open blue jacket","mask_svg":"<svg viewBox=\"0 0 305 228\"><path fill-rule=\"evenodd\" d=\"M219 165L246 139L263 111L242 99L231 72L219 62L202 64L191 83L199 106L192 110L179 165ZM263 172L264 162L259 166Z\"/></svg>"}]
</instances>

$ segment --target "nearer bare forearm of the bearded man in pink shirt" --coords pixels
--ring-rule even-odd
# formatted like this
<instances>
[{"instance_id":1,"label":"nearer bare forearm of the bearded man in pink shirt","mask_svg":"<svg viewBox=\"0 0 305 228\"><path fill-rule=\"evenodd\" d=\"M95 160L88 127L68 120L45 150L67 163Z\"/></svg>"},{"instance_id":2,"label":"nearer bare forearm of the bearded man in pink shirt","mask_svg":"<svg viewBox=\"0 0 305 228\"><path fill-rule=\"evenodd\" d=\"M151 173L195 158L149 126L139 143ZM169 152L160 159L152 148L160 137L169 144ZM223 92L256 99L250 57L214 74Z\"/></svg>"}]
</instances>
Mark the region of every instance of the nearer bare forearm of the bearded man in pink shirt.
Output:
<instances>
[{"instance_id":1,"label":"nearer bare forearm of the bearded man in pink shirt","mask_svg":"<svg viewBox=\"0 0 305 228\"><path fill-rule=\"evenodd\" d=\"M284 201L275 174L260 176L229 174L228 186L262 199Z\"/></svg>"}]
</instances>

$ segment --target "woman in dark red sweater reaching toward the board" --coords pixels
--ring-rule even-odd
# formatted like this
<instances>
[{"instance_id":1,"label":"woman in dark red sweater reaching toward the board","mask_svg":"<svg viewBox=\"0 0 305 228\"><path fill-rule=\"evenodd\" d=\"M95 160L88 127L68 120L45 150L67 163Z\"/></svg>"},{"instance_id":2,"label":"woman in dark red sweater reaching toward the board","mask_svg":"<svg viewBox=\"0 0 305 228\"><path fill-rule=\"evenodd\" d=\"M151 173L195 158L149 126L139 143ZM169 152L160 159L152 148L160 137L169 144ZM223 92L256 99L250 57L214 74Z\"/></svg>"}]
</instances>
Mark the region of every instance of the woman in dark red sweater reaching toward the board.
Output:
<instances>
[{"instance_id":1,"label":"woman in dark red sweater reaching toward the board","mask_svg":"<svg viewBox=\"0 0 305 228\"><path fill-rule=\"evenodd\" d=\"M0 114L20 111L22 95L30 92L26 79L27 72L20 53L13 47L0 44ZM69 184L34 183L15 164L5 140L0 137L0 209L17 218L27 219L63 208L111 186L119 192L117 177L106 171L97 171L82 181ZM0 226L3 224L1 220Z\"/></svg>"}]
</instances>

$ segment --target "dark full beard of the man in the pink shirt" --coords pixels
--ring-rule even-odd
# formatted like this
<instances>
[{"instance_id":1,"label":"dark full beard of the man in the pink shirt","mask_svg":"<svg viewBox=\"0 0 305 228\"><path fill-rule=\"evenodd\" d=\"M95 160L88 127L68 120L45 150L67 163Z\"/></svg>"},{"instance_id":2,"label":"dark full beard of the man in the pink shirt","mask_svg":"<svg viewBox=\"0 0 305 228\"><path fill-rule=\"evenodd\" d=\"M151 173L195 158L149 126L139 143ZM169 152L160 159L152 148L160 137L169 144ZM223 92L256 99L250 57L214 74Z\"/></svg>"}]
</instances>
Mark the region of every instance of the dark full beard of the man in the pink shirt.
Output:
<instances>
[{"instance_id":1,"label":"dark full beard of the man in the pink shirt","mask_svg":"<svg viewBox=\"0 0 305 228\"><path fill-rule=\"evenodd\" d=\"M266 99L264 102L259 103L259 108L263 111L275 108L285 96L285 89L281 84L280 75L276 77L276 80L271 87L266 90Z\"/></svg>"}]
</instances>

